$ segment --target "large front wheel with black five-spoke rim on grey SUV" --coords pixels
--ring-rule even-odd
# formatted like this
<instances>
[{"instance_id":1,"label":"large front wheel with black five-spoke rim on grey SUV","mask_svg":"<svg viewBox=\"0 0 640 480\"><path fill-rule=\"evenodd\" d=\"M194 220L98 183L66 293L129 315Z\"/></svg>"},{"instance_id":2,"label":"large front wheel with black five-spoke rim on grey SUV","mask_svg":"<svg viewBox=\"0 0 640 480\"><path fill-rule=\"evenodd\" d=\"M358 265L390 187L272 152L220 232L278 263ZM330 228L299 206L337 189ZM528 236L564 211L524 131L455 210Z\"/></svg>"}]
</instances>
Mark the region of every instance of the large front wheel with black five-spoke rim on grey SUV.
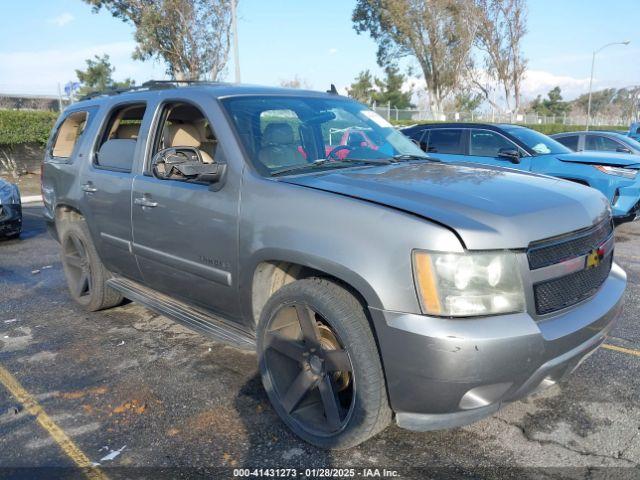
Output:
<instances>
[{"instance_id":1,"label":"large front wheel with black five-spoke rim on grey SUV","mask_svg":"<svg viewBox=\"0 0 640 480\"><path fill-rule=\"evenodd\" d=\"M258 324L258 356L274 409L313 445L350 448L391 421L364 307L330 280L298 280L268 300Z\"/></svg>"}]
</instances>

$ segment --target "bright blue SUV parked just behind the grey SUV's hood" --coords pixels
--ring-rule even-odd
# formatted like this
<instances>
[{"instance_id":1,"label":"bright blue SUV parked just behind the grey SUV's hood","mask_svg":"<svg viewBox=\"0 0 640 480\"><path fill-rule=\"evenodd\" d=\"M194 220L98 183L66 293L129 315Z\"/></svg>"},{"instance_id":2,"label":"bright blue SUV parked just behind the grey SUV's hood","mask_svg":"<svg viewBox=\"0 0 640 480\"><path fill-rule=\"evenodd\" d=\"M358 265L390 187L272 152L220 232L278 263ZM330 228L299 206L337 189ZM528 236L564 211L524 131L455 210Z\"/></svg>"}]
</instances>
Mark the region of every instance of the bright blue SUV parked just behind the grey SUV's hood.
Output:
<instances>
[{"instance_id":1,"label":"bright blue SUV parked just behind the grey SUV's hood","mask_svg":"<svg viewBox=\"0 0 640 480\"><path fill-rule=\"evenodd\" d=\"M616 224L635 220L640 213L640 155L577 153L519 125L439 123L402 132L444 162L498 165L596 188L609 199Z\"/></svg>"}]
</instances>

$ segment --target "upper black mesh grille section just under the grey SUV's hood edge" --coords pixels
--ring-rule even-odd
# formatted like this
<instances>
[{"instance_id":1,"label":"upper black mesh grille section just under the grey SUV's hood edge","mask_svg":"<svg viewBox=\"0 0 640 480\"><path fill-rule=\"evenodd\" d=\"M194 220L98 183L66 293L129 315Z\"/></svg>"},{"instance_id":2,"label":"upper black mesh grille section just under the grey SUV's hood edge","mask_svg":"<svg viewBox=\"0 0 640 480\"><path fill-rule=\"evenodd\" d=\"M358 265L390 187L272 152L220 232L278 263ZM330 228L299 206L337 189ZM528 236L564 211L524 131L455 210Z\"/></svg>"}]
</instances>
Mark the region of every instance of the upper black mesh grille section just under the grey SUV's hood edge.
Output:
<instances>
[{"instance_id":1,"label":"upper black mesh grille section just under the grey SUV's hood edge","mask_svg":"<svg viewBox=\"0 0 640 480\"><path fill-rule=\"evenodd\" d=\"M555 263L586 255L598 248L613 233L613 223L606 220L584 232L574 232L568 239L555 238L532 245L528 252L529 268L547 267Z\"/></svg>"}]
</instances>

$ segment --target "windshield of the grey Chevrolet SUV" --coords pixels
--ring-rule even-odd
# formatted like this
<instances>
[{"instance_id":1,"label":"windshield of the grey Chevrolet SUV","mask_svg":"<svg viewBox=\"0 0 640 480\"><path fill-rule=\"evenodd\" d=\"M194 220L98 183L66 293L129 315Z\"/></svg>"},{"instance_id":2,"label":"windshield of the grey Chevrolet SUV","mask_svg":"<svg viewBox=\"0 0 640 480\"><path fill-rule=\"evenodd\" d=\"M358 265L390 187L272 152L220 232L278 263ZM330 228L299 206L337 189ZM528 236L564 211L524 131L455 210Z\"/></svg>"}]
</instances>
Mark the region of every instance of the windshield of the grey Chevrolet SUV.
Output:
<instances>
[{"instance_id":1,"label":"windshield of the grey Chevrolet SUV","mask_svg":"<svg viewBox=\"0 0 640 480\"><path fill-rule=\"evenodd\" d=\"M247 154L265 175L428 157L364 105L344 98L242 96L222 100Z\"/></svg>"}]
</instances>

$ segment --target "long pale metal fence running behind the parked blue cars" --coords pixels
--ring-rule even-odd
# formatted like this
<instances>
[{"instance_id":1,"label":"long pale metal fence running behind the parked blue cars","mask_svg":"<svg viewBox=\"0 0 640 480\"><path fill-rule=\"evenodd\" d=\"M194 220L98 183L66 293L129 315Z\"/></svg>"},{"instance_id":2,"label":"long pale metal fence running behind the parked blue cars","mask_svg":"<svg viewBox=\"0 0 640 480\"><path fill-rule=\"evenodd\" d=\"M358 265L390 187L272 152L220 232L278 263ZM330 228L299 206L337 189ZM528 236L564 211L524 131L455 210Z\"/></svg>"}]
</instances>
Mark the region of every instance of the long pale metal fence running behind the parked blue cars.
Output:
<instances>
[{"instance_id":1,"label":"long pale metal fence running behind the parked blue cars","mask_svg":"<svg viewBox=\"0 0 640 480\"><path fill-rule=\"evenodd\" d=\"M401 122L481 122L481 123L522 123L522 124L561 124L586 125L586 115L544 116L535 113L512 114L498 112L447 112L434 115L429 110L400 110L392 107L373 107L373 109L389 121ZM631 118L595 115L591 117L592 126L628 126Z\"/></svg>"}]
</instances>

